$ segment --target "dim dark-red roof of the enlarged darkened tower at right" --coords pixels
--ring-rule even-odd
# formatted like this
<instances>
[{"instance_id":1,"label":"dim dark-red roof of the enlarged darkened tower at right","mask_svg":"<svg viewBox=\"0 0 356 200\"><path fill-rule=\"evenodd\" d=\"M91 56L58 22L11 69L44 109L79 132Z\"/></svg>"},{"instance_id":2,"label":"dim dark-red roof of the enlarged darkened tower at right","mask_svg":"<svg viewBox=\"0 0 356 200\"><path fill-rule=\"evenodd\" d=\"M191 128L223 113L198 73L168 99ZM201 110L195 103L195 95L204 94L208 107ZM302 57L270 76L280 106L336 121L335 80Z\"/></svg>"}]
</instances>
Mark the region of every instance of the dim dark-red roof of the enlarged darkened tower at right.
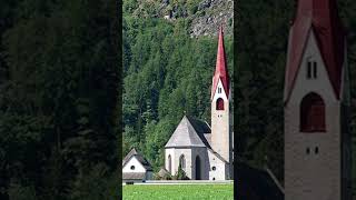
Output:
<instances>
[{"instance_id":1,"label":"dim dark-red roof of the enlarged darkened tower at right","mask_svg":"<svg viewBox=\"0 0 356 200\"><path fill-rule=\"evenodd\" d=\"M289 34L286 100L294 87L310 30L316 36L334 92L339 98L345 30L338 17L336 0L298 0L297 2L298 8Z\"/></svg>"}]
</instances>

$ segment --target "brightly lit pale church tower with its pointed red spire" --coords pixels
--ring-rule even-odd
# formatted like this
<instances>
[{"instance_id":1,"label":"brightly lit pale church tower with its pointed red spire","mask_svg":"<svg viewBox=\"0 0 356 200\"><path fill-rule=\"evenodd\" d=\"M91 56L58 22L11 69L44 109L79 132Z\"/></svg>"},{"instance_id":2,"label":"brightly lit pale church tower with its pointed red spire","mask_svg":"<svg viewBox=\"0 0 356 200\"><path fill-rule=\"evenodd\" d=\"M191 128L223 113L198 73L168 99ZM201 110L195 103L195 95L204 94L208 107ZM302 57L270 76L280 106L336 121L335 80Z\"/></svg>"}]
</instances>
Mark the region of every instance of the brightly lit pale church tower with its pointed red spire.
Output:
<instances>
[{"instance_id":1,"label":"brightly lit pale church tower with its pointed red spire","mask_svg":"<svg viewBox=\"0 0 356 200\"><path fill-rule=\"evenodd\" d=\"M211 146L227 162L231 162L231 134L229 127L230 80L227 70L224 32L219 30L216 69L211 87Z\"/></svg>"}]
</instances>

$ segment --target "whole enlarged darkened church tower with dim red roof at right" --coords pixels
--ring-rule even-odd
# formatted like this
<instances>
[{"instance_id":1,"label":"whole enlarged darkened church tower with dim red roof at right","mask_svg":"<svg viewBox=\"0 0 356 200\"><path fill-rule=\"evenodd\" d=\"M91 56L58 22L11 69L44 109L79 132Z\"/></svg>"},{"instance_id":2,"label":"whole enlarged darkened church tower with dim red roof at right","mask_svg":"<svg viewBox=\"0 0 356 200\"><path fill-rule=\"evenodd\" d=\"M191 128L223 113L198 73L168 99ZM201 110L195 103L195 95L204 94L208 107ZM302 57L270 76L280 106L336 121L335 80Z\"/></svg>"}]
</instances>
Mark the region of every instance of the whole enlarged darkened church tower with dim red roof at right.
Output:
<instances>
[{"instance_id":1,"label":"whole enlarged darkened church tower with dim red roof at right","mask_svg":"<svg viewBox=\"0 0 356 200\"><path fill-rule=\"evenodd\" d=\"M285 74L285 199L349 200L349 82L336 0L297 0Z\"/></svg>"}]
</instances>

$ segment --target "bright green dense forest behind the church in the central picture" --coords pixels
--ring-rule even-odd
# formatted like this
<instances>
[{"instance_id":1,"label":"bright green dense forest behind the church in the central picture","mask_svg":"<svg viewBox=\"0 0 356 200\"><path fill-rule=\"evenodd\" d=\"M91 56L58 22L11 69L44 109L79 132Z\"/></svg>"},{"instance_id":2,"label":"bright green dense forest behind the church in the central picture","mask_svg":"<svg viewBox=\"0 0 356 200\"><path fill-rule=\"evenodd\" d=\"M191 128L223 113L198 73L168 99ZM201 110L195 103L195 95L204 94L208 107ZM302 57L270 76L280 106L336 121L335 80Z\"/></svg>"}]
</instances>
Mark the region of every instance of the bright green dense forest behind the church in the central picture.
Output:
<instances>
[{"instance_id":1,"label":"bright green dense forest behind the church in the central picture","mask_svg":"<svg viewBox=\"0 0 356 200\"><path fill-rule=\"evenodd\" d=\"M210 119L217 37L191 38L185 18L168 21L123 12L122 28L122 156L136 148L157 171L164 166L164 147L184 114ZM225 37L225 47L233 76L231 36Z\"/></svg>"}]
</instances>

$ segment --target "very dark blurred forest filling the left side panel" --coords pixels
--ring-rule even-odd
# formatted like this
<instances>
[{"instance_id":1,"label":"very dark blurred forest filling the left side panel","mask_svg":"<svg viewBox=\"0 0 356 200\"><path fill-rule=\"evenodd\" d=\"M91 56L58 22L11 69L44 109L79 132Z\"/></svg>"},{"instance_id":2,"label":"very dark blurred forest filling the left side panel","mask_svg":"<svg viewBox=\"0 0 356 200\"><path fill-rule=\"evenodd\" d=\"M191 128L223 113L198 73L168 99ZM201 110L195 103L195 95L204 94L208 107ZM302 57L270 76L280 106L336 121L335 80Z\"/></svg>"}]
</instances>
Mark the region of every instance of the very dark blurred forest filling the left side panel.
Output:
<instances>
[{"instance_id":1,"label":"very dark blurred forest filling the left side panel","mask_svg":"<svg viewBox=\"0 0 356 200\"><path fill-rule=\"evenodd\" d=\"M0 199L118 199L118 6L0 3Z\"/></svg>"}]
</instances>

